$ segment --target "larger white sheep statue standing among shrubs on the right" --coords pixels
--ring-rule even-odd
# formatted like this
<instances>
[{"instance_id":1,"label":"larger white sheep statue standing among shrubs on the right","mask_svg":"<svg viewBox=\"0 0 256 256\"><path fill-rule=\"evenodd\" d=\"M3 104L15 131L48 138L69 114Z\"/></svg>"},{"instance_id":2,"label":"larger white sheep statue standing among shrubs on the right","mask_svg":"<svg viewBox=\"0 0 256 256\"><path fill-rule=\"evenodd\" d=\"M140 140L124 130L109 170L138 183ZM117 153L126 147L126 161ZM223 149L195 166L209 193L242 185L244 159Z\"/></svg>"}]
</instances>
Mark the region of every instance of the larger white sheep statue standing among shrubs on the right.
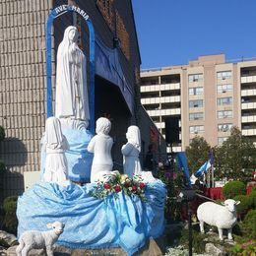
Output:
<instances>
[{"instance_id":1,"label":"larger white sheep statue standing among shrubs on the right","mask_svg":"<svg viewBox=\"0 0 256 256\"><path fill-rule=\"evenodd\" d=\"M240 201L227 199L224 206L213 202L206 202L197 209L197 218L200 222L200 230L204 232L204 223L218 227L219 237L224 240L223 229L227 229L227 238L232 240L232 227L236 223L236 205Z\"/></svg>"}]
</instances>

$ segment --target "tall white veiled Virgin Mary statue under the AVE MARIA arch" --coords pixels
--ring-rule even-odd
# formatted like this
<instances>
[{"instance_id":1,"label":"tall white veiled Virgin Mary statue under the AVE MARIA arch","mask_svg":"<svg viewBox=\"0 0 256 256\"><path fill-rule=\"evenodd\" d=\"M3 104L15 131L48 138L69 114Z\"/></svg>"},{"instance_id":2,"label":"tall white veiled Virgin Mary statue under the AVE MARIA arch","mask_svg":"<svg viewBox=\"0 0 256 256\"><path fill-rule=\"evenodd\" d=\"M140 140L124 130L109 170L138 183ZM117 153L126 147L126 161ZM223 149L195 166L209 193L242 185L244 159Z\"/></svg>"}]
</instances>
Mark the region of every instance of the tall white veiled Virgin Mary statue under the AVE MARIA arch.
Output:
<instances>
[{"instance_id":1,"label":"tall white veiled Virgin Mary statue under the AVE MARIA arch","mask_svg":"<svg viewBox=\"0 0 256 256\"><path fill-rule=\"evenodd\" d=\"M78 31L69 26L57 51L55 116L85 121L90 119L86 56L78 47Z\"/></svg>"}]
</instances>

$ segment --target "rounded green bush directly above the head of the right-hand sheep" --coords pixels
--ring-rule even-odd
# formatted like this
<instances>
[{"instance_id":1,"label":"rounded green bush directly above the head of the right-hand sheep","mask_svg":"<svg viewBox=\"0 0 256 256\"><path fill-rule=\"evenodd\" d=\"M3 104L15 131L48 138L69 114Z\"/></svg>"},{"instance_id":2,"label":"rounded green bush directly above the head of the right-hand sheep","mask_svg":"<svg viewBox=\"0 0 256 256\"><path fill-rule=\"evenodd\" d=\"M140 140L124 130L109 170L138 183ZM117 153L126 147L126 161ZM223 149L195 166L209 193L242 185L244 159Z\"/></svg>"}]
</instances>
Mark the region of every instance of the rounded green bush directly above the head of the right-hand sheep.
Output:
<instances>
[{"instance_id":1,"label":"rounded green bush directly above the head of the right-hand sheep","mask_svg":"<svg viewBox=\"0 0 256 256\"><path fill-rule=\"evenodd\" d=\"M237 195L245 195L245 184L241 181L229 181L224 185L223 195L226 199L234 198Z\"/></svg>"}]
</instances>

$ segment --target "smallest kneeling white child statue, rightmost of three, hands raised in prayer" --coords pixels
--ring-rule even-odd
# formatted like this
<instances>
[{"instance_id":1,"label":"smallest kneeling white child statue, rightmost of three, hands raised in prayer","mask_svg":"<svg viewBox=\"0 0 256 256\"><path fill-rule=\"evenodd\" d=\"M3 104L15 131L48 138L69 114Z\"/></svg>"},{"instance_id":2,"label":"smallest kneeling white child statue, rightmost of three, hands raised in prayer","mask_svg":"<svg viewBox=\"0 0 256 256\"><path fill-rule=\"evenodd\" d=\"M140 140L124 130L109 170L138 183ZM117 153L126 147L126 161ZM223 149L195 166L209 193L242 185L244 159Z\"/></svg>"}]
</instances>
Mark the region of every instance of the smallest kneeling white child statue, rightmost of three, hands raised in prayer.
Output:
<instances>
[{"instance_id":1,"label":"smallest kneeling white child statue, rightmost of three, hands raised in prayer","mask_svg":"<svg viewBox=\"0 0 256 256\"><path fill-rule=\"evenodd\" d=\"M141 133L139 127L132 125L126 133L127 143L122 146L124 173L130 178L141 175L142 168L139 160L141 152Z\"/></svg>"}]
</instances>

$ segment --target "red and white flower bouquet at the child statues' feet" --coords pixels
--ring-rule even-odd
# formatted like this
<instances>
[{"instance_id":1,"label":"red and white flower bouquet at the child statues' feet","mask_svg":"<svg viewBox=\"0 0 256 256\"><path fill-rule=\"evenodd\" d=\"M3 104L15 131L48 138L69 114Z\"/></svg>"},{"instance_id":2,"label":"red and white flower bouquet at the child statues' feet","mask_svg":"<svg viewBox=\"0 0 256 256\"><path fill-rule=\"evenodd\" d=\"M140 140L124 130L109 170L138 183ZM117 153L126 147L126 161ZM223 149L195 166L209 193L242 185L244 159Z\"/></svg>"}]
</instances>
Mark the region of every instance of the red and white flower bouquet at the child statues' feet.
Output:
<instances>
[{"instance_id":1,"label":"red and white flower bouquet at the child statues' feet","mask_svg":"<svg viewBox=\"0 0 256 256\"><path fill-rule=\"evenodd\" d=\"M109 195L118 198L118 193L123 191L130 197L138 196L141 201L146 202L145 189L147 185L143 182L141 176L129 178L126 174L120 174L118 170L112 171L106 181L98 181L91 196L97 199L105 199Z\"/></svg>"}]
</instances>

